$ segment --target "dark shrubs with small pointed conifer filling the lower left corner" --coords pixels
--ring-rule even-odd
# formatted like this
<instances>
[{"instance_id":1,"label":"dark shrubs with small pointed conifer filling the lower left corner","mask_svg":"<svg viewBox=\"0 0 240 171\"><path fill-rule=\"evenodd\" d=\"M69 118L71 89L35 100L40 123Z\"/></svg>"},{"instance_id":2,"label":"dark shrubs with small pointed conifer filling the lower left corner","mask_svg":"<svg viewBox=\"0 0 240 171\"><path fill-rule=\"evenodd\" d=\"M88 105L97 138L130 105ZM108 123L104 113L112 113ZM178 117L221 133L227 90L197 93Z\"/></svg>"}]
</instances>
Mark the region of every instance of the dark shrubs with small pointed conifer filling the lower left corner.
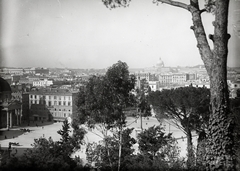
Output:
<instances>
[{"instance_id":1,"label":"dark shrubs with small pointed conifer filling the lower left corner","mask_svg":"<svg viewBox=\"0 0 240 171\"><path fill-rule=\"evenodd\" d=\"M61 135L59 141L51 137L34 139L31 149L27 149L21 156L10 155L5 151L1 158L2 171L56 171L56 170L84 170L80 158L72 158L73 152L80 149L86 131L79 126L72 126L67 120L63 122L62 129L57 133Z\"/></svg>"}]
</instances>

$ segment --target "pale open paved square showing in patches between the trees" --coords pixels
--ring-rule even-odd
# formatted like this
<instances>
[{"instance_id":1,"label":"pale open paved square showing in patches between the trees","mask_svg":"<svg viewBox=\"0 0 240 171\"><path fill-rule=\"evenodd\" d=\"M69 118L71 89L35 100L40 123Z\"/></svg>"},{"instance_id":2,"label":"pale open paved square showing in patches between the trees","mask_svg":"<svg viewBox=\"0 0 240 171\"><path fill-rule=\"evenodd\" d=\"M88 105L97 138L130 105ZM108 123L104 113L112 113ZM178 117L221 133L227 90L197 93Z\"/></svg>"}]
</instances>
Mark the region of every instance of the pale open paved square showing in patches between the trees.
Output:
<instances>
[{"instance_id":1,"label":"pale open paved square showing in patches between the trees","mask_svg":"<svg viewBox=\"0 0 240 171\"><path fill-rule=\"evenodd\" d=\"M147 129L153 125L159 125L160 123L157 121L155 117L143 118L142 119L142 126L143 129ZM173 137L177 139L178 146L180 147L180 156L186 156L186 148L187 148L187 140L184 133L179 130L178 128L174 127L174 125L169 121L162 121L162 126L165 128L166 133L172 133ZM17 154L20 155L26 148L31 148L31 144L34 142L34 139L45 137L51 137L54 141L60 139L60 135L57 134L57 131L61 129L62 122L35 122L31 123L30 126L21 126L21 127L14 127L7 131L6 129L1 129L0 134L0 144L2 149L7 149L10 142L19 143L19 146L12 146L12 151L17 151ZM127 127L128 128L135 128L133 130L132 136L136 138L137 132L140 131L140 119L128 117L127 118ZM24 132L20 129L29 129L30 132ZM97 129L86 129L87 134L85 136L86 144L88 142L98 142L102 140L102 134ZM196 146L196 136L193 137L194 145ZM134 146L137 149L137 146ZM79 150L75 155L79 155L83 160L85 159L85 150L86 145L82 146L81 150Z\"/></svg>"}]
</instances>

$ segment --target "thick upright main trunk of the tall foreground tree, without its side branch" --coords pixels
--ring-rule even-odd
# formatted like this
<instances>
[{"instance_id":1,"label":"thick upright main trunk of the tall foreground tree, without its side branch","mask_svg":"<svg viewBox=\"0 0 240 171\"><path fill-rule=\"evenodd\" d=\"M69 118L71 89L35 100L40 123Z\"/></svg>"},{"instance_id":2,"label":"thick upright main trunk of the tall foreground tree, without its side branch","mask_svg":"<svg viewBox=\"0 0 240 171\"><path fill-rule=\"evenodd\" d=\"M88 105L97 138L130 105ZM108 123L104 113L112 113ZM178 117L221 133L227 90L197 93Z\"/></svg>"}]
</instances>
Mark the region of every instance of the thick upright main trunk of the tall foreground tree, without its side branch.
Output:
<instances>
[{"instance_id":1,"label":"thick upright main trunk of the tall foreground tree, without its side branch","mask_svg":"<svg viewBox=\"0 0 240 171\"><path fill-rule=\"evenodd\" d=\"M216 1L214 50L210 67L211 115L208 127L207 169L235 170L233 123L227 85L228 0Z\"/></svg>"}]
</instances>

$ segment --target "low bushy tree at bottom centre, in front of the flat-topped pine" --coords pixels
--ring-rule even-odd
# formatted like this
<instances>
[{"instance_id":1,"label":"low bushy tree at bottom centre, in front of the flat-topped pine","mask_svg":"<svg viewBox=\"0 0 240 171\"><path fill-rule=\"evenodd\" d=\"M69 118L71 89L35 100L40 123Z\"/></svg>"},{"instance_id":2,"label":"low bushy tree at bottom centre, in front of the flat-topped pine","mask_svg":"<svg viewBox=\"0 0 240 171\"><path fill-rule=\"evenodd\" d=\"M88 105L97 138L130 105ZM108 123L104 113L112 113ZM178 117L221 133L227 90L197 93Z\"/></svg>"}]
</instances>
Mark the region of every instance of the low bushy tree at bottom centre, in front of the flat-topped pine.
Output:
<instances>
[{"instance_id":1,"label":"low bushy tree at bottom centre, in front of the flat-topped pine","mask_svg":"<svg viewBox=\"0 0 240 171\"><path fill-rule=\"evenodd\" d=\"M179 149L171 134L161 126L150 127L138 134L140 153L132 155L125 170L181 170Z\"/></svg>"}]
</instances>

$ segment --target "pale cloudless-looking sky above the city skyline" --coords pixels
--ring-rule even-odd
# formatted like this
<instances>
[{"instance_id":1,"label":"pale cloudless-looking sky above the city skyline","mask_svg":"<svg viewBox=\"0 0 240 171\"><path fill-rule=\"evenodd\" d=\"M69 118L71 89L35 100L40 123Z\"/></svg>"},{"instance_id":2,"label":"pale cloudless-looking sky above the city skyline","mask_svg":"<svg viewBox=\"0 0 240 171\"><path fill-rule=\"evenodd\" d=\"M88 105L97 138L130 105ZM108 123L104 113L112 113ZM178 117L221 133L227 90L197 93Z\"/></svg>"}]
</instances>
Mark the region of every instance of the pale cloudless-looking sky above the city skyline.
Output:
<instances>
[{"instance_id":1,"label":"pale cloudless-looking sky above the city skyline","mask_svg":"<svg viewBox=\"0 0 240 171\"><path fill-rule=\"evenodd\" d=\"M107 68L121 60L130 68L143 68L159 58L166 66L203 64L191 15L183 9L152 0L132 0L128 8L112 10L101 0L0 3L1 66ZM214 16L203 18L207 34L212 33ZM229 42L229 66L240 66L239 41L232 36Z\"/></svg>"}]
</instances>

